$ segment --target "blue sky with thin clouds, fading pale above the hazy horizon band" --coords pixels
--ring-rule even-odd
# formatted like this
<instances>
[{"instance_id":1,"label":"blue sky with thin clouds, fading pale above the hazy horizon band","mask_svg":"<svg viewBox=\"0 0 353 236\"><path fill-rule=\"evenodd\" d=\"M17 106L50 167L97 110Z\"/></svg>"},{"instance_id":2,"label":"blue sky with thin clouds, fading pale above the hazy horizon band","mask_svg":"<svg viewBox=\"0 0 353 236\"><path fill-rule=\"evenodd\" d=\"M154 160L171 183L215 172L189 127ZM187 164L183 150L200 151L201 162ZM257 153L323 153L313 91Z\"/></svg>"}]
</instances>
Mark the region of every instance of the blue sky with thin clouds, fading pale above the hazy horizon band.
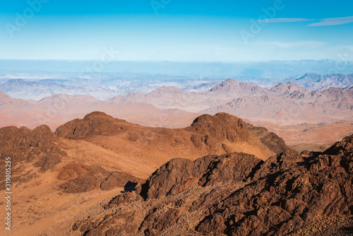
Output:
<instances>
[{"instance_id":1,"label":"blue sky with thin clouds, fading pale above the hazy horizon band","mask_svg":"<svg viewBox=\"0 0 353 236\"><path fill-rule=\"evenodd\" d=\"M353 1L13 0L0 59L353 61Z\"/></svg>"}]
</instances>

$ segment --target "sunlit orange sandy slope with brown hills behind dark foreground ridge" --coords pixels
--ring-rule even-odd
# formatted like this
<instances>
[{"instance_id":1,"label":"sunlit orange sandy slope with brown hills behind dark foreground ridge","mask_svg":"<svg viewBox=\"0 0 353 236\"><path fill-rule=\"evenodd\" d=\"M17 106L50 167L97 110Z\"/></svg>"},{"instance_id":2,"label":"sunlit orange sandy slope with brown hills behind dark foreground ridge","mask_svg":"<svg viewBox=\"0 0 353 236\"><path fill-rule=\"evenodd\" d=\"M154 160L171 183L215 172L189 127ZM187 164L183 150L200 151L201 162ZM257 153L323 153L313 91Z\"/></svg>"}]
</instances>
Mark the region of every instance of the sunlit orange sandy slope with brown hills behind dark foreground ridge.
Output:
<instances>
[{"instance_id":1,"label":"sunlit orange sandy slope with brown hills behind dark foreground ridge","mask_svg":"<svg viewBox=\"0 0 353 236\"><path fill-rule=\"evenodd\" d=\"M64 229L71 228L73 218L82 211L120 191L141 187L157 167L174 158L187 157L193 163L204 155L237 151L249 153L244 157L251 156L253 160L266 160L286 150L289 148L282 138L267 129L224 113L202 115L185 129L139 126L102 112L74 119L55 133L45 125L32 130L1 128L0 164L4 166L5 158L11 157L12 190L16 193L12 199L16 206L13 222L18 225L11 233L66 235ZM239 167L244 165L233 165ZM203 172L209 175L205 165L200 170L191 169L195 176L188 178L201 178ZM0 175L4 176L4 170L0 170ZM0 184L5 186L4 181ZM182 188L172 187L172 191ZM114 202L135 197L128 195ZM0 205L4 201L0 200ZM3 213L0 211L0 215Z\"/></svg>"}]
</instances>

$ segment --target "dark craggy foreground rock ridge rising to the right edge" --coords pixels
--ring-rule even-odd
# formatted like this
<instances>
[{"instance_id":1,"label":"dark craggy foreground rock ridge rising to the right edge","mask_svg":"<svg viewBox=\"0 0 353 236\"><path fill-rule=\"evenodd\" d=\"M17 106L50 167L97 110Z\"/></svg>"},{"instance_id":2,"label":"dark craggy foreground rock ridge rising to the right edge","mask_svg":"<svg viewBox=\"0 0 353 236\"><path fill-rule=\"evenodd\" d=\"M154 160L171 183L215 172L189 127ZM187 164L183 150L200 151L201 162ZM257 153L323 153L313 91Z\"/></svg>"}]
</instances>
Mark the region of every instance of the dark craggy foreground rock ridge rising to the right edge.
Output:
<instances>
[{"instance_id":1,"label":"dark craggy foreground rock ridge rising to the right edge","mask_svg":"<svg viewBox=\"0 0 353 236\"><path fill-rule=\"evenodd\" d=\"M105 205L109 211L83 216L72 230L82 235L352 235L352 183L353 136L323 153L285 151L265 162L244 153L174 159L135 193L112 199Z\"/></svg>"}]
</instances>

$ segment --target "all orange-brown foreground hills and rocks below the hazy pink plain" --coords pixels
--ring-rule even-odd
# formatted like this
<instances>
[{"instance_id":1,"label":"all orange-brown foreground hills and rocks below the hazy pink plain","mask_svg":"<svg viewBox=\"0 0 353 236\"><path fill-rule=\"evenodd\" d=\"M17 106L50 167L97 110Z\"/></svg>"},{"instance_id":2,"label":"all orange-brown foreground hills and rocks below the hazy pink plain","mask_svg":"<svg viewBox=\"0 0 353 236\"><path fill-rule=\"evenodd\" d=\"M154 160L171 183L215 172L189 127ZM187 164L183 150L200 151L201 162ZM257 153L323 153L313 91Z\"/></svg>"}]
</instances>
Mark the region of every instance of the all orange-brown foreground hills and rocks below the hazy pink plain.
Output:
<instances>
[{"instance_id":1,"label":"all orange-brown foreground hills and rocks below the hazy pink plain","mask_svg":"<svg viewBox=\"0 0 353 236\"><path fill-rule=\"evenodd\" d=\"M299 155L226 113L167 129L92 112L55 132L1 128L0 142L11 235L352 232L352 136Z\"/></svg>"}]
</instances>

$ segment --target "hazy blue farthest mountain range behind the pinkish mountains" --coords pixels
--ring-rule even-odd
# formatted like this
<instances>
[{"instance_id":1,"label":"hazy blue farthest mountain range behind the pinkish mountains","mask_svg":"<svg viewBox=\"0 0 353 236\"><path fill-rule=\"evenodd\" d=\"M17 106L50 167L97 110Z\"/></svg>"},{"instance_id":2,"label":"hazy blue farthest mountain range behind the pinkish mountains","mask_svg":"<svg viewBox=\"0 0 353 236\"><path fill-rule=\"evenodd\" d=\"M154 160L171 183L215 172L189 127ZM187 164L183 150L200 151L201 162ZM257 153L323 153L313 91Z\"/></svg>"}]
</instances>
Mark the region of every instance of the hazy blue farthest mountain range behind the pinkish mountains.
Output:
<instances>
[{"instance_id":1,"label":"hazy blue farthest mountain range behind the pinkish mountains","mask_svg":"<svg viewBox=\"0 0 353 236\"><path fill-rule=\"evenodd\" d=\"M148 75L148 74L114 74L97 73L93 77L80 78L77 73L38 73L28 75L22 73L5 74L0 76L0 90L12 98L25 100L40 100L50 95L92 95L95 98L105 100L116 95L128 93L150 93L162 86L174 86L185 92L207 92L219 89L225 85L222 78L196 78L193 76L171 76L171 75ZM61 77L61 78L60 78ZM330 87L351 88L353 73L332 74L321 76L318 74L305 74L304 76L292 78L235 78L242 82L239 89L245 88L246 84L258 85L254 88L272 88L278 83L292 82L311 91L321 91ZM220 85L217 85L220 83ZM251 85L251 86L253 86ZM244 87L245 86L245 87ZM227 87L227 86L226 86ZM244 87L244 88L243 88ZM237 90L237 88L228 88ZM222 93L229 91L221 90ZM247 92L246 92L247 93ZM264 95L264 94L263 94Z\"/></svg>"}]
</instances>

